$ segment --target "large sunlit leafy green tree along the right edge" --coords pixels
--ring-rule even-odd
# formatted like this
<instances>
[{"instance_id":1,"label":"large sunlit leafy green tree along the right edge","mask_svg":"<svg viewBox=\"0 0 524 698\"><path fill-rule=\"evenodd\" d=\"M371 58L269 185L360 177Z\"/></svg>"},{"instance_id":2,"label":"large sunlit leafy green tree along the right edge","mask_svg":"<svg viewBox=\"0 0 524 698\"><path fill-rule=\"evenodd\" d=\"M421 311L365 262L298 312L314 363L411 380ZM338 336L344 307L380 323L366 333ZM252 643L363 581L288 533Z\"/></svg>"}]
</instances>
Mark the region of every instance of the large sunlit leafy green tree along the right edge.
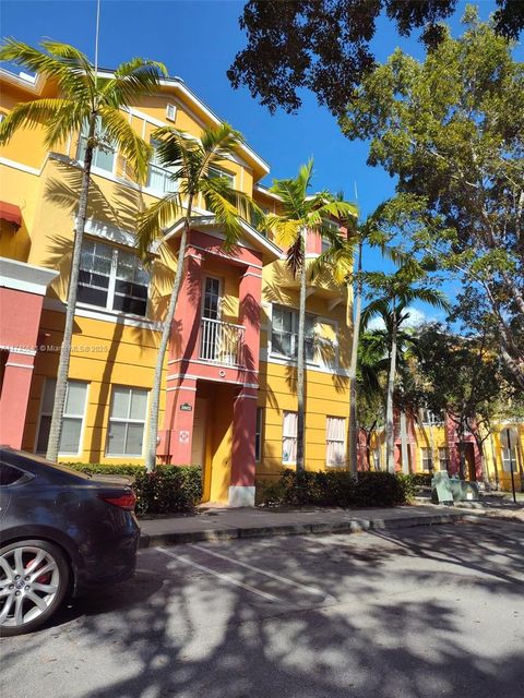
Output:
<instances>
[{"instance_id":1,"label":"large sunlit leafy green tree along the right edge","mask_svg":"<svg viewBox=\"0 0 524 698\"><path fill-rule=\"evenodd\" d=\"M397 49L376 67L341 125L397 177L382 216L409 230L415 254L481 294L524 388L524 65L473 8L464 22L424 61Z\"/></svg>"}]
</instances>

